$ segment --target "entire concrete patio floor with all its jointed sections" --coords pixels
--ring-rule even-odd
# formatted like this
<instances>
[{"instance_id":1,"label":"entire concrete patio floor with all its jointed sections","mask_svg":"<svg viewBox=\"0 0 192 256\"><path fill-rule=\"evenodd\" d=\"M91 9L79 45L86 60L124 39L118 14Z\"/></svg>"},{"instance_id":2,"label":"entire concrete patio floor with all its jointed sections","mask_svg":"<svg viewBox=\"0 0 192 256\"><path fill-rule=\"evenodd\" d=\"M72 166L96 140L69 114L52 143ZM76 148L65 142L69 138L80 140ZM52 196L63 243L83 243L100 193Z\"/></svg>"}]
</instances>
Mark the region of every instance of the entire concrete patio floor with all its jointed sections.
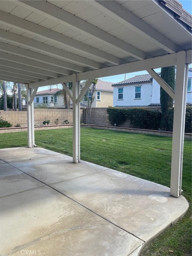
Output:
<instances>
[{"instance_id":1,"label":"entire concrete patio floor with all its jointed sections","mask_svg":"<svg viewBox=\"0 0 192 256\"><path fill-rule=\"evenodd\" d=\"M0 158L4 256L136 256L188 209L170 188L50 150L0 149Z\"/></svg>"}]
</instances>

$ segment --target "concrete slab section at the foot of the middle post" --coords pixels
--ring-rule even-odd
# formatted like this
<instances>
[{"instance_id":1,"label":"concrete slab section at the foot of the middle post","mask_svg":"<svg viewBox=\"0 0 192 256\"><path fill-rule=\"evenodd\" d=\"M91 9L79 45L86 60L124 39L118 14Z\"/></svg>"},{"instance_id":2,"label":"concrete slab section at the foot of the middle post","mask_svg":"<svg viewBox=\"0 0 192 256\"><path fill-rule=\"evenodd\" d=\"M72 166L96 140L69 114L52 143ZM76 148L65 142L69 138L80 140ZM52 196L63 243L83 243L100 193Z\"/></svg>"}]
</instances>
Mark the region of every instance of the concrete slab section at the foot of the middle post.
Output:
<instances>
[{"instance_id":1,"label":"concrete slab section at the foot of the middle post","mask_svg":"<svg viewBox=\"0 0 192 256\"><path fill-rule=\"evenodd\" d=\"M54 155L49 158L38 158L35 159L35 162L27 160L22 161L22 164L20 162L11 162L11 165L46 184L74 179L109 169L85 161L74 164L72 157L68 155Z\"/></svg>"}]
</instances>

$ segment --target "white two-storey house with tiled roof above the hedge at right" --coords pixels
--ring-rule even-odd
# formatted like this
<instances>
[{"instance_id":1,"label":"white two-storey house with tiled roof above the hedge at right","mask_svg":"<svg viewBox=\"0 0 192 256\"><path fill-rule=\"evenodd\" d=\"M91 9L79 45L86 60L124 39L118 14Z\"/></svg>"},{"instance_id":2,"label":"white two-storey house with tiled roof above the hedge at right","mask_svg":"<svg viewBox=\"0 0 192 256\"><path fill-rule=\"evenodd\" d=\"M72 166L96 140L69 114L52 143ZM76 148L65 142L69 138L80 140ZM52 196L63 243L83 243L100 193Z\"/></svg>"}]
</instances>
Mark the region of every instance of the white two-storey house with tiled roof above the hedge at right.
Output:
<instances>
[{"instance_id":1,"label":"white two-storey house with tiled roof above the hedge at right","mask_svg":"<svg viewBox=\"0 0 192 256\"><path fill-rule=\"evenodd\" d=\"M192 69L188 70L187 103L192 103ZM160 85L151 75L138 75L113 84L113 106L160 104Z\"/></svg>"}]
</instances>

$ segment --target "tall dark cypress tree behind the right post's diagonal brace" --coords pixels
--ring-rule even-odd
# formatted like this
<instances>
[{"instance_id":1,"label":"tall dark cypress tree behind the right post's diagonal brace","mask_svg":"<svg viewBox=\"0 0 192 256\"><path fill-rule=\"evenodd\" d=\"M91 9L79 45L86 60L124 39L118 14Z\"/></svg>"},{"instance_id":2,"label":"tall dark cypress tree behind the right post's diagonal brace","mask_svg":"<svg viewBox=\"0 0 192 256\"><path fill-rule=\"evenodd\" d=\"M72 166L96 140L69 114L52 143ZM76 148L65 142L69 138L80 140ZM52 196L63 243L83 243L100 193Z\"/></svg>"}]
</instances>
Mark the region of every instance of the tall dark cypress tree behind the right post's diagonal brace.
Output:
<instances>
[{"instance_id":1,"label":"tall dark cypress tree behind the right post's diagonal brace","mask_svg":"<svg viewBox=\"0 0 192 256\"><path fill-rule=\"evenodd\" d=\"M161 78L172 88L175 87L175 66L161 68ZM160 89L161 102L161 130L166 131L167 126L167 110L173 107L173 99L164 91Z\"/></svg>"}]
</instances>

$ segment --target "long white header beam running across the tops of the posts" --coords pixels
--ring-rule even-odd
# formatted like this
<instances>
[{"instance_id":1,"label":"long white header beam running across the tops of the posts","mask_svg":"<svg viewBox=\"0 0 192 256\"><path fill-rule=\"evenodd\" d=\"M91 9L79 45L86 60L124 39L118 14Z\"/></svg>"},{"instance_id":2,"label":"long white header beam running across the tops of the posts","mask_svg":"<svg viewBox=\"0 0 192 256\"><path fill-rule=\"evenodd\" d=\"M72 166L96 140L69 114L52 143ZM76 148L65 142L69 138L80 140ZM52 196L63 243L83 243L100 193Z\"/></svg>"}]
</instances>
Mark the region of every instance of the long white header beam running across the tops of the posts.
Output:
<instances>
[{"instance_id":1,"label":"long white header beam running across the tops of the posts","mask_svg":"<svg viewBox=\"0 0 192 256\"><path fill-rule=\"evenodd\" d=\"M77 80L82 81L82 80L92 79L93 77L108 77L108 76L131 73L136 71L143 71L149 68L163 68L167 66L174 66L176 65L176 62L177 62L177 53L172 53L172 54L168 54L168 55L164 55L156 58L140 60L140 61L122 64L118 66L79 73L77 74ZM48 85L58 84L58 83L68 83L73 80L72 77L73 76L70 75L65 77L49 79L46 81L41 81L41 86L48 86ZM36 86L40 86L38 82L30 84L29 88L34 88Z\"/></svg>"}]
</instances>

